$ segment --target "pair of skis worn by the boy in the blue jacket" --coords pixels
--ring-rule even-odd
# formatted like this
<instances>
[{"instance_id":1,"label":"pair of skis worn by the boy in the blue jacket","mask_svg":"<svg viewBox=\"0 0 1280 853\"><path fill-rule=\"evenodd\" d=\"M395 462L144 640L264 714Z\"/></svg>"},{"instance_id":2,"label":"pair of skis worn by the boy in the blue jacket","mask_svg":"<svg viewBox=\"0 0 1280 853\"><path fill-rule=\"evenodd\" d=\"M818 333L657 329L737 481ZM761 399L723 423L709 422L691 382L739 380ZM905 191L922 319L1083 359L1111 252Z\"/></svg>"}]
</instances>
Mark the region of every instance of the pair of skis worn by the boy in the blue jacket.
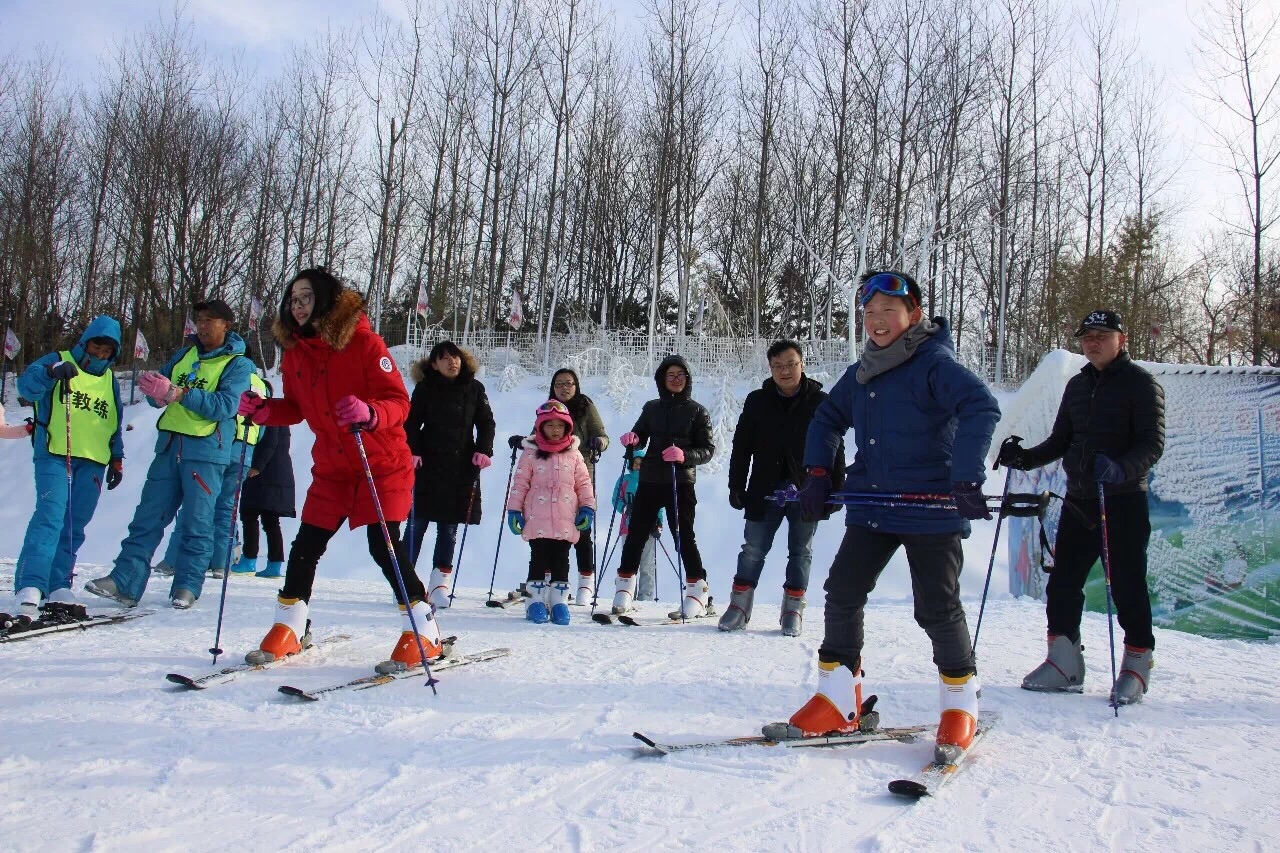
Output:
<instances>
[{"instance_id":1,"label":"pair of skis worn by the boy in the blue jacket","mask_svg":"<svg viewBox=\"0 0 1280 853\"><path fill-rule=\"evenodd\" d=\"M978 747L978 743L992 729L995 717L986 717L979 722L978 731L973 736L973 743L964 752L960 752L950 761L931 761L914 776L895 779L888 783L888 793L906 799L916 800L932 797L938 790L955 779L956 774L965 765L969 756ZM774 724L777 725L777 724ZM769 729L773 726L765 726ZM653 738L636 731L632 736L645 744L645 752L668 756L673 752L687 752L696 749L722 749L728 747L777 747L782 749L820 748L820 747L851 747L864 743L899 742L911 743L922 734L933 730L933 726L906 726L906 727L874 727L850 734L823 735L819 738L778 738L767 735L754 735L746 738L728 738L724 740L707 740L700 743L660 743Z\"/></svg>"}]
</instances>

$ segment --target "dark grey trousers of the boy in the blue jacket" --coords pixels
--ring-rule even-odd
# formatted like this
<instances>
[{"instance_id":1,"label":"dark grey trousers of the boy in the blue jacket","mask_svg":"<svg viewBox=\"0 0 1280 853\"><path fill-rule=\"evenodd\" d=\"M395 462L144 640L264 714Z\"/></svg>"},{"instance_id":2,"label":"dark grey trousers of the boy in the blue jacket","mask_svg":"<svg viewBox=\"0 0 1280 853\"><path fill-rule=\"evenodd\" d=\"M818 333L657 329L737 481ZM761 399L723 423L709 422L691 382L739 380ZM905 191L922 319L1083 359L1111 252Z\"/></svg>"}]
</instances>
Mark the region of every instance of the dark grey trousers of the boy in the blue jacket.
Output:
<instances>
[{"instance_id":1,"label":"dark grey trousers of the boy in the blue jacket","mask_svg":"<svg viewBox=\"0 0 1280 853\"><path fill-rule=\"evenodd\" d=\"M884 566L899 547L911 570L915 621L933 642L933 663L952 678L975 672L969 625L960 605L964 552L959 533L879 533L845 528L827 576L827 630L818 660L850 669L863 656L863 612Z\"/></svg>"}]
</instances>

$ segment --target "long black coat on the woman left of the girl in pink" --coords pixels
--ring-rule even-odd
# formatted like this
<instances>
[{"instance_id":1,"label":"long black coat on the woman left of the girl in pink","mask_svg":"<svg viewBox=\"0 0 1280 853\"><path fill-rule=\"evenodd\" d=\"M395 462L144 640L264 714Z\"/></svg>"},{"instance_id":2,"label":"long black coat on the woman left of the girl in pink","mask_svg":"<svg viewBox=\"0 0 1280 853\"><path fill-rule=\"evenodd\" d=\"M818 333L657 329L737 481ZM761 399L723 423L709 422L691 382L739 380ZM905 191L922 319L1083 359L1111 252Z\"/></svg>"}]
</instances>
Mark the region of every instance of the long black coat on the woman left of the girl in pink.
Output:
<instances>
[{"instance_id":1,"label":"long black coat on the woman left of the girl in pink","mask_svg":"<svg viewBox=\"0 0 1280 853\"><path fill-rule=\"evenodd\" d=\"M475 378L477 366L475 356L462 350L462 369L454 379L426 359L410 368L415 386L404 429L410 451L422 457L413 487L415 524L480 524L479 471L471 457L476 452L493 456L497 425L484 383Z\"/></svg>"}]
</instances>

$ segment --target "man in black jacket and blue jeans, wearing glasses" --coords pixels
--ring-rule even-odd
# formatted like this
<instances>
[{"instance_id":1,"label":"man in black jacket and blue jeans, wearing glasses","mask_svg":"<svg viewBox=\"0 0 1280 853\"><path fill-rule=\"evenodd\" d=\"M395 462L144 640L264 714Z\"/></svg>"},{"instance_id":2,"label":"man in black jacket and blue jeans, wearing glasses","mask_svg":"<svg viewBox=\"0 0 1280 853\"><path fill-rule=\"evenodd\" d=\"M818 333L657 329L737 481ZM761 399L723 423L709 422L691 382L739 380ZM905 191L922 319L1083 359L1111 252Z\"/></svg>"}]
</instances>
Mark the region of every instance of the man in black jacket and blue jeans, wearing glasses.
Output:
<instances>
[{"instance_id":1,"label":"man in black jacket and blue jeans, wearing glasses","mask_svg":"<svg viewBox=\"0 0 1280 853\"><path fill-rule=\"evenodd\" d=\"M782 633L799 637L803 628L805 590L813 562L813 534L818 521L828 517L805 515L799 505L780 506L771 500L776 489L799 487L804 482L804 441L818 405L827 398L822 383L804 375L804 353L795 341L778 341L769 347L769 378L746 396L742 414L733 429L733 453L728 462L728 503L746 516L742 551L728 608L719 629L733 631L751 621L755 585L773 537L787 523L787 576L782 587ZM835 456L833 485L845 480L844 444ZM750 480L748 480L750 474Z\"/></svg>"}]
</instances>

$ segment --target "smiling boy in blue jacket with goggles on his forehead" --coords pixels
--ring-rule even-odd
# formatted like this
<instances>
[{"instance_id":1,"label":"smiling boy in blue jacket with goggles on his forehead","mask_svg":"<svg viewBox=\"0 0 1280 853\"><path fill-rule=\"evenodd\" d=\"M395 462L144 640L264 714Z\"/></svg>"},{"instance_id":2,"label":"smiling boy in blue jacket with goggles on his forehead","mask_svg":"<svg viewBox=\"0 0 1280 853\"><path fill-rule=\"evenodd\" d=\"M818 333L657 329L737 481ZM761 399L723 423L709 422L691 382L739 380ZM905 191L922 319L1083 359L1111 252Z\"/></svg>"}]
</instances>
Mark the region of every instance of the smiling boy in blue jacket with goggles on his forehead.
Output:
<instances>
[{"instance_id":1,"label":"smiling boy in blue jacket with goggles on his forehead","mask_svg":"<svg viewBox=\"0 0 1280 853\"><path fill-rule=\"evenodd\" d=\"M906 549L915 620L933 642L942 719L937 757L951 761L977 731L978 680L960 605L960 540L989 519L982 483L996 398L955 359L946 320L924 319L920 288L904 273L869 273L859 292L868 343L818 406L805 441L801 508L819 516L836 448L854 430L851 492L948 494L955 508L846 506L845 538L827 578L818 693L791 717L806 734L854 731L861 713L863 610L881 571Z\"/></svg>"}]
</instances>

